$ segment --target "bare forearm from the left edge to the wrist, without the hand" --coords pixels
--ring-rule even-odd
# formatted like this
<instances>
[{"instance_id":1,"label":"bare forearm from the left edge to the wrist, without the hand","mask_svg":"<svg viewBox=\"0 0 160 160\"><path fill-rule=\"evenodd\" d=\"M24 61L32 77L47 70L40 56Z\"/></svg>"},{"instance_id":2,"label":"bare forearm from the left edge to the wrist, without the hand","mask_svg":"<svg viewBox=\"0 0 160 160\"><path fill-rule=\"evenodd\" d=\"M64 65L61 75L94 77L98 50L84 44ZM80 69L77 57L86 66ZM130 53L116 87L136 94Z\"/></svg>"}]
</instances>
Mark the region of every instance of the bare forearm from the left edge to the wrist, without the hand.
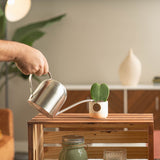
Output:
<instances>
[{"instance_id":1,"label":"bare forearm from the left edge to the wrist, without the hand","mask_svg":"<svg viewBox=\"0 0 160 160\"><path fill-rule=\"evenodd\" d=\"M0 40L0 61L15 61L19 47L17 42Z\"/></svg>"}]
</instances>

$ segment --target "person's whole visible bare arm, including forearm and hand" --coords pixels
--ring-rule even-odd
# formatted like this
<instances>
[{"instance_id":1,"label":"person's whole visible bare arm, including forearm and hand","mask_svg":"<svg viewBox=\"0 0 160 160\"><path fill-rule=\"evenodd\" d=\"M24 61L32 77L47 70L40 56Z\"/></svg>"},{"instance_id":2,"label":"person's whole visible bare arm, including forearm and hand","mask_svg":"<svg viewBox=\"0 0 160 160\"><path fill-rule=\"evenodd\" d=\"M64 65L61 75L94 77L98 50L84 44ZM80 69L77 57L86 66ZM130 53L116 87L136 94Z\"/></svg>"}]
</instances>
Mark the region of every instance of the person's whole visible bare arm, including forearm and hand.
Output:
<instances>
[{"instance_id":1,"label":"person's whole visible bare arm, including forearm and hand","mask_svg":"<svg viewBox=\"0 0 160 160\"><path fill-rule=\"evenodd\" d=\"M13 61L24 74L48 73L48 63L43 54L28 45L0 40L0 61Z\"/></svg>"}]
</instances>

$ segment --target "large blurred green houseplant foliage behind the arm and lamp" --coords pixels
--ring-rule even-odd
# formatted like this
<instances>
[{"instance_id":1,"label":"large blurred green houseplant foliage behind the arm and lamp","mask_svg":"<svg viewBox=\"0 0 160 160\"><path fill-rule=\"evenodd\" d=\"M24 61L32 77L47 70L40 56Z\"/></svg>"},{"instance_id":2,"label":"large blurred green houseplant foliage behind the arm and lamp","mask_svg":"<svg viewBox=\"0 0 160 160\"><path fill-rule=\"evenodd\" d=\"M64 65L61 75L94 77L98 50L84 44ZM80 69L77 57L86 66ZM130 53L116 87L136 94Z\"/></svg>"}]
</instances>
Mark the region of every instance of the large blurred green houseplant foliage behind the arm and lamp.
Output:
<instances>
[{"instance_id":1,"label":"large blurred green houseplant foliage behind the arm and lamp","mask_svg":"<svg viewBox=\"0 0 160 160\"><path fill-rule=\"evenodd\" d=\"M1 4L1 1L0 1L0 4ZM36 40L44 36L45 32L40 31L41 28L45 27L48 24L61 20L64 16L65 14L62 14L57 17L53 17L44 21L35 22L29 25L20 27L15 31L12 37L12 40L32 46ZM0 6L0 39L5 39L5 32L6 32L5 30L6 30L6 18ZM20 72L20 70L16 67L14 62L9 62L7 68L8 68L7 73L9 75L9 79L12 79L15 76L19 76L23 79L28 79L28 75L24 75L22 72ZM5 67L5 63L3 63L0 68L0 78L5 75L6 75L6 67ZM33 78L38 82L40 81L40 79L35 75L33 75ZM0 89L4 85L5 85L5 82L1 83Z\"/></svg>"}]
</instances>

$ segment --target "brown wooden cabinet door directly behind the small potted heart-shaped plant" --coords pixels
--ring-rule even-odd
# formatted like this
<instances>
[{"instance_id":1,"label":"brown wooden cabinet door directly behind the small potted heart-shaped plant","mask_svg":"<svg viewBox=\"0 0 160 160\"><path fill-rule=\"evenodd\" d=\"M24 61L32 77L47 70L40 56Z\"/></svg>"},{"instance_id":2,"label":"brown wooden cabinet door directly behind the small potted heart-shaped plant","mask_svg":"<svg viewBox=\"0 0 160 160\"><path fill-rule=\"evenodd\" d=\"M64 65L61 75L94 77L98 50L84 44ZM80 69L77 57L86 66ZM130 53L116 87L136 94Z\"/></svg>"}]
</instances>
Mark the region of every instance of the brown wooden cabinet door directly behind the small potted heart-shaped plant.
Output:
<instances>
[{"instance_id":1,"label":"brown wooden cabinet door directly behind the small potted heart-shaped plant","mask_svg":"<svg viewBox=\"0 0 160 160\"><path fill-rule=\"evenodd\" d=\"M62 109L85 99L90 99L89 90L68 90L67 100ZM108 98L109 113L123 113L123 90L111 90ZM80 104L66 113L88 113L88 103Z\"/></svg>"}]
</instances>

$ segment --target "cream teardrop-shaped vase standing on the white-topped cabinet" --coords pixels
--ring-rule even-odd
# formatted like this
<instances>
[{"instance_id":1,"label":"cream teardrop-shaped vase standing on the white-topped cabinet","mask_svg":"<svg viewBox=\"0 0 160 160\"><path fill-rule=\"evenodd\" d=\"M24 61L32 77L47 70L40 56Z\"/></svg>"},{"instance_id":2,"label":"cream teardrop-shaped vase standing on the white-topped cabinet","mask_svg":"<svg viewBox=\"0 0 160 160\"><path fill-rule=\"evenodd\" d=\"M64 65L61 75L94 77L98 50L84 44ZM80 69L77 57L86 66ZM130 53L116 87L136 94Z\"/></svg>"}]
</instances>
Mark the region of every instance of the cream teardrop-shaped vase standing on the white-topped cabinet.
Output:
<instances>
[{"instance_id":1,"label":"cream teardrop-shaped vase standing on the white-topped cabinet","mask_svg":"<svg viewBox=\"0 0 160 160\"><path fill-rule=\"evenodd\" d=\"M123 85L136 86L141 76L141 62L130 49L128 56L119 68L119 77Z\"/></svg>"}]
</instances>

